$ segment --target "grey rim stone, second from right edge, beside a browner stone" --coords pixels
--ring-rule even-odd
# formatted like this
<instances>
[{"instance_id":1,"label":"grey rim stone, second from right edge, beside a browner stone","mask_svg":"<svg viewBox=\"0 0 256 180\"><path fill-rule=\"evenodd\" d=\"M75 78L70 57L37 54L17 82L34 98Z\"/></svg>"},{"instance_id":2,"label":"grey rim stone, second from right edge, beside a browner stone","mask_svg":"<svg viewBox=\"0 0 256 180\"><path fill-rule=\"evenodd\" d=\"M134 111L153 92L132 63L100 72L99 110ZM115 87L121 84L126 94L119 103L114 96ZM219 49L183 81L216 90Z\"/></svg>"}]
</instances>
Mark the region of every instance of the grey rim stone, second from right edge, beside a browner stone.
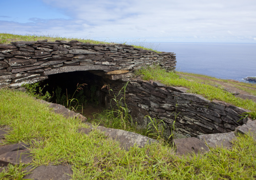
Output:
<instances>
[{"instance_id":1,"label":"grey rim stone, second from right edge, beside a browner stone","mask_svg":"<svg viewBox=\"0 0 256 180\"><path fill-rule=\"evenodd\" d=\"M231 141L235 139L234 132L228 133L218 133L218 134L204 134L199 135L197 138L204 141L210 147L226 147L229 148L232 146Z\"/></svg>"}]
</instances>

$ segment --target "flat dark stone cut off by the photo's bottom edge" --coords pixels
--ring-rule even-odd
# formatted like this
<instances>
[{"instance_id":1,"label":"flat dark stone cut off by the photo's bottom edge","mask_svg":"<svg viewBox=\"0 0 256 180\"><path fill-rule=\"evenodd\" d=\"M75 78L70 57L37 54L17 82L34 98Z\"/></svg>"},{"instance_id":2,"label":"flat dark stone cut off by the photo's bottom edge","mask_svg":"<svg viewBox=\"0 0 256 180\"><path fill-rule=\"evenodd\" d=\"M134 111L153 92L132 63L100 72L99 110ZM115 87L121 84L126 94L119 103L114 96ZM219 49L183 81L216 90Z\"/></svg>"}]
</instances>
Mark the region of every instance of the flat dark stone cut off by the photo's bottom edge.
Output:
<instances>
[{"instance_id":1,"label":"flat dark stone cut off by the photo's bottom edge","mask_svg":"<svg viewBox=\"0 0 256 180\"><path fill-rule=\"evenodd\" d=\"M25 168L26 169L26 168ZM63 165L42 165L29 171L31 174L25 175L24 179L36 179L36 180L69 180L73 174L70 166Z\"/></svg>"}]
</instances>

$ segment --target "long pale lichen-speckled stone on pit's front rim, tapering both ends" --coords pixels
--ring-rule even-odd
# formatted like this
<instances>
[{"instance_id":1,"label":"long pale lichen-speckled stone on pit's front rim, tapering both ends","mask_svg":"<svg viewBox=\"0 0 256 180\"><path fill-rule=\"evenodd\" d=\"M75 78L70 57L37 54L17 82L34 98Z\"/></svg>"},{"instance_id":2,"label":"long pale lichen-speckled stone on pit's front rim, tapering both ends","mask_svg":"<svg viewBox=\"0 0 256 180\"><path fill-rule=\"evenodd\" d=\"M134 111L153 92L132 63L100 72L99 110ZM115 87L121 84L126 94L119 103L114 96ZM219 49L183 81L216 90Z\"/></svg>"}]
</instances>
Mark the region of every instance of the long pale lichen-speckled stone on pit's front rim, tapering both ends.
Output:
<instances>
[{"instance_id":1,"label":"long pale lichen-speckled stone on pit's front rim, tapering both ends","mask_svg":"<svg viewBox=\"0 0 256 180\"><path fill-rule=\"evenodd\" d=\"M119 141L121 147L123 147L125 150L129 150L135 144L137 144L138 147L142 148L146 144L158 142L157 140L149 138L147 136L120 129L106 128L102 126L98 126L97 129L104 132L106 136Z\"/></svg>"}]
</instances>

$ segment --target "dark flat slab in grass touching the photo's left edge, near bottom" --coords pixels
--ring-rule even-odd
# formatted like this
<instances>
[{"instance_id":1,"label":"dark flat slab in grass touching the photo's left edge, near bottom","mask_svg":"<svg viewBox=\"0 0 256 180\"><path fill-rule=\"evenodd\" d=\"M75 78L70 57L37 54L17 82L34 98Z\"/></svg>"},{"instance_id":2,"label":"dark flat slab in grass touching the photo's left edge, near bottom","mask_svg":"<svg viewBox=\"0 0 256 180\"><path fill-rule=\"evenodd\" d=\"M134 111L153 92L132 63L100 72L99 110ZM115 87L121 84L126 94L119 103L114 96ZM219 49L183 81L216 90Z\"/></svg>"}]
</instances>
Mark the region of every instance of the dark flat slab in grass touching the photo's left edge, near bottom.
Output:
<instances>
[{"instance_id":1,"label":"dark flat slab in grass touching the photo's left edge, near bottom","mask_svg":"<svg viewBox=\"0 0 256 180\"><path fill-rule=\"evenodd\" d=\"M0 166L7 166L9 163L13 165L29 164L32 162L31 155L28 149L6 152L0 155Z\"/></svg>"}]
</instances>

